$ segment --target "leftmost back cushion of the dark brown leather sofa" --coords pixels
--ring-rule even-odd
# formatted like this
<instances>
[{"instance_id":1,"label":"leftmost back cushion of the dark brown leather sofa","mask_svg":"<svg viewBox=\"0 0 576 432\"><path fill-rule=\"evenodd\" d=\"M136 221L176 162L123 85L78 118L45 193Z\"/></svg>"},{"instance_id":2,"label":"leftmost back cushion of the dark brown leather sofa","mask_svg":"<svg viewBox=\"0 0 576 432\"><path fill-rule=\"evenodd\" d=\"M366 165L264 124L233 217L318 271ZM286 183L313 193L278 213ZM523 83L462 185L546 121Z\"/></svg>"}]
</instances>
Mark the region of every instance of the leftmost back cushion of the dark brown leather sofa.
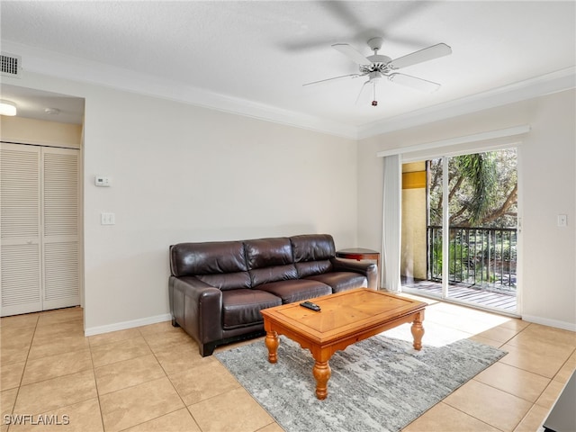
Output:
<instances>
[{"instance_id":1,"label":"leftmost back cushion of the dark brown leather sofa","mask_svg":"<svg viewBox=\"0 0 576 432\"><path fill-rule=\"evenodd\" d=\"M220 290L249 288L244 243L213 241L170 247L170 271L176 277L196 276Z\"/></svg>"}]
</instances>

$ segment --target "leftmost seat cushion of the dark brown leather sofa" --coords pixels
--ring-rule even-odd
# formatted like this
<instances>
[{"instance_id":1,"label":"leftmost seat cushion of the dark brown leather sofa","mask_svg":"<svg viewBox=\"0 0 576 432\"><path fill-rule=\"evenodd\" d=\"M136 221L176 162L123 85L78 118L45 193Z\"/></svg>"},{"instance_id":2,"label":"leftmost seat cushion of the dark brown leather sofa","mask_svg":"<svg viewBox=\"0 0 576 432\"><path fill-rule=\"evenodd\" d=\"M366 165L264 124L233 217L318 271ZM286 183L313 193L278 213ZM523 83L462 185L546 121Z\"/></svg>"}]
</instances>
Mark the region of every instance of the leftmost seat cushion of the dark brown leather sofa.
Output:
<instances>
[{"instance_id":1,"label":"leftmost seat cushion of the dark brown leather sofa","mask_svg":"<svg viewBox=\"0 0 576 432\"><path fill-rule=\"evenodd\" d=\"M264 322L260 311L282 300L266 291L238 289L222 292L222 329L238 329Z\"/></svg>"}]
</instances>

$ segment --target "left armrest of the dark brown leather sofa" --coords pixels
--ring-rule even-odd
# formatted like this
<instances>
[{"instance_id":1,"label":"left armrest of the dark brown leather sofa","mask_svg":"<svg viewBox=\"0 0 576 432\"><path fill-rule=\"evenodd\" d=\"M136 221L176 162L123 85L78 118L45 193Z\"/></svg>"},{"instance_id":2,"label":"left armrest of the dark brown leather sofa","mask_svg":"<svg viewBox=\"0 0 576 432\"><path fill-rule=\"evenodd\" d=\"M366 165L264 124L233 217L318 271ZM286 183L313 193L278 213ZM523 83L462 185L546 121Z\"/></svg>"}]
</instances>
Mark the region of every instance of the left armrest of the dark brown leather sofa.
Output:
<instances>
[{"instance_id":1,"label":"left armrest of the dark brown leather sofa","mask_svg":"<svg viewBox=\"0 0 576 432\"><path fill-rule=\"evenodd\" d=\"M222 292L193 276L169 279L173 322L206 344L222 338Z\"/></svg>"}]
</instances>

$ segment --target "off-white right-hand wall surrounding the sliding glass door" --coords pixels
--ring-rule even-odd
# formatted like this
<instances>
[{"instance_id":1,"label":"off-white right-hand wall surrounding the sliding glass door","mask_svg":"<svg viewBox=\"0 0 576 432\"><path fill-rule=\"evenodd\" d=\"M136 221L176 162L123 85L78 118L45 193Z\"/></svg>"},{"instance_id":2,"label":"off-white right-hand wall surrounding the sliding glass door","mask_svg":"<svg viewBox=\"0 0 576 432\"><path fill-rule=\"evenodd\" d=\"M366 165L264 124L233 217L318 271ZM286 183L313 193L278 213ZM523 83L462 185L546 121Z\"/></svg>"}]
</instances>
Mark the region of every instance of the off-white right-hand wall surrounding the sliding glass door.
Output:
<instances>
[{"instance_id":1,"label":"off-white right-hand wall surrounding the sliding glass door","mask_svg":"<svg viewBox=\"0 0 576 432\"><path fill-rule=\"evenodd\" d=\"M358 243L382 248L383 159L376 153L529 124L519 155L523 206L522 315L576 330L576 95L574 90L398 130L358 146ZM568 226L556 226L557 214Z\"/></svg>"}]
</instances>

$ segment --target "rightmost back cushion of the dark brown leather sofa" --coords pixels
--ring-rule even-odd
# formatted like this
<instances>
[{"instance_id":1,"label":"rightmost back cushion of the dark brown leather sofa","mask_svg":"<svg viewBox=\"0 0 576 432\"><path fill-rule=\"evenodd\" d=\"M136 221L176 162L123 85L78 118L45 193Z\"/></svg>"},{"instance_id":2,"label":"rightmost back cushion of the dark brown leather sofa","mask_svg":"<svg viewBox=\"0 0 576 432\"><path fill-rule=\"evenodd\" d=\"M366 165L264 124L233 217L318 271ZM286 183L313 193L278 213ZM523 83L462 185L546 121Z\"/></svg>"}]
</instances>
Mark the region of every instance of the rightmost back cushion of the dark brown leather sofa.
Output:
<instances>
[{"instance_id":1,"label":"rightmost back cushion of the dark brown leather sofa","mask_svg":"<svg viewBox=\"0 0 576 432\"><path fill-rule=\"evenodd\" d=\"M332 268L330 258L336 257L334 238L329 234L306 234L290 238L294 265L299 277L321 275Z\"/></svg>"}]
</instances>

